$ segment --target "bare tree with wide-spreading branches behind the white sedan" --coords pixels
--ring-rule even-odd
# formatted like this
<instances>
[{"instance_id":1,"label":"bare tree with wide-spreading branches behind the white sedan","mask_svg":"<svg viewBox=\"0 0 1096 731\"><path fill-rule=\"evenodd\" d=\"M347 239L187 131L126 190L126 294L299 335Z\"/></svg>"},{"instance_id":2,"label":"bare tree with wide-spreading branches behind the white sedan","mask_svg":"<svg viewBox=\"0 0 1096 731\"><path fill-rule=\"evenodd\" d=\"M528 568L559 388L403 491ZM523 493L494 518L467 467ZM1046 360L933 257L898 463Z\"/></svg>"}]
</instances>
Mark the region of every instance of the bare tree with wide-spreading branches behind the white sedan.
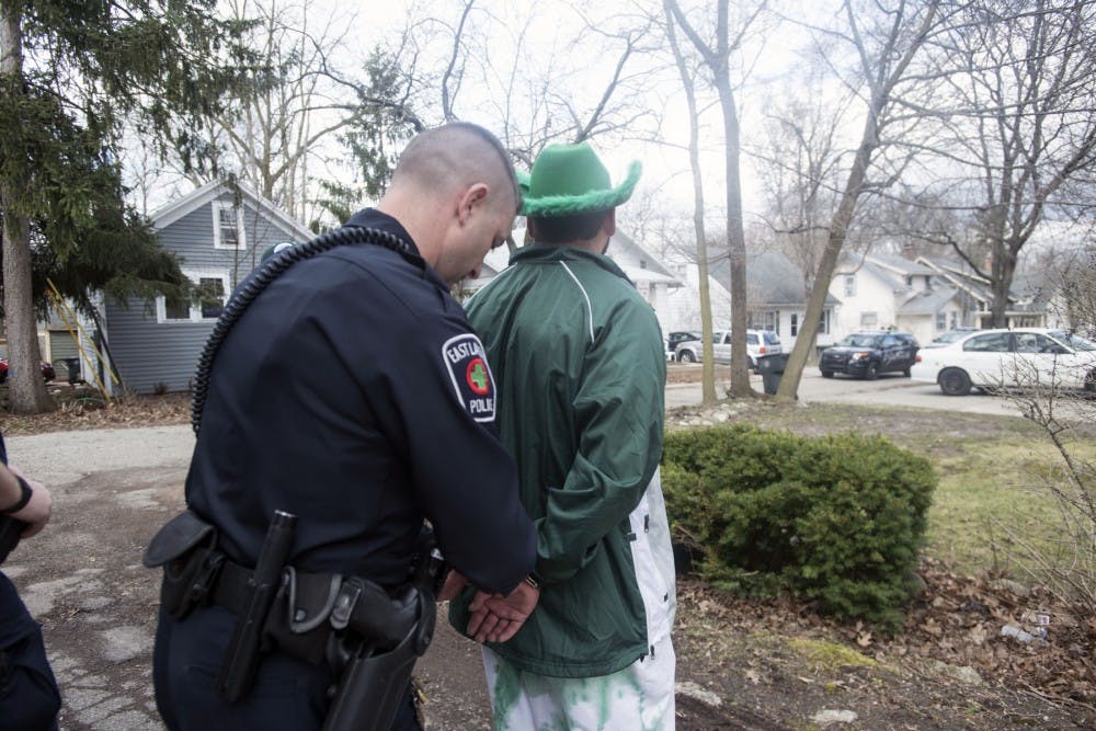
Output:
<instances>
[{"instance_id":1,"label":"bare tree with wide-spreading branches behind the white sedan","mask_svg":"<svg viewBox=\"0 0 1096 731\"><path fill-rule=\"evenodd\" d=\"M1048 213L1096 204L1071 183L1096 168L1096 3L983 0L937 39L950 61L933 145L945 176L937 197L967 213L932 231L991 283L991 320L1006 324L1019 254ZM945 62L945 61L941 61Z\"/></svg>"}]
</instances>

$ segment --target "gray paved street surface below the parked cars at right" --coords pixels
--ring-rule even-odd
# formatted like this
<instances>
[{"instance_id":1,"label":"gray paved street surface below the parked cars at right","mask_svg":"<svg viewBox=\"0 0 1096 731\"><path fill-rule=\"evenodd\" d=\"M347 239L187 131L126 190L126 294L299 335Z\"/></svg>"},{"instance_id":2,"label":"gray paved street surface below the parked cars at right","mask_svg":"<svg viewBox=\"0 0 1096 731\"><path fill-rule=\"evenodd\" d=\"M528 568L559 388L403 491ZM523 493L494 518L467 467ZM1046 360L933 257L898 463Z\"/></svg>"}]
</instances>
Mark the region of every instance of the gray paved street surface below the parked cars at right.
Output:
<instances>
[{"instance_id":1,"label":"gray paved street surface below the parked cars at right","mask_svg":"<svg viewBox=\"0 0 1096 731\"><path fill-rule=\"evenodd\" d=\"M674 368L696 368L699 365L672 366ZM761 376L751 376L755 390L762 390ZM716 392L722 395L728 384L717 384ZM1016 406L1008 399L989 396L978 391L969 396L944 396L935 384L911 380L901 374L882 375L878 380L857 378L822 378L818 368L808 367L799 384L799 400L804 403L836 401L869 406L912 407L939 409L960 413L1019 415ZM685 384L666 387L666 407L685 407L700 403L700 385Z\"/></svg>"}]
</instances>

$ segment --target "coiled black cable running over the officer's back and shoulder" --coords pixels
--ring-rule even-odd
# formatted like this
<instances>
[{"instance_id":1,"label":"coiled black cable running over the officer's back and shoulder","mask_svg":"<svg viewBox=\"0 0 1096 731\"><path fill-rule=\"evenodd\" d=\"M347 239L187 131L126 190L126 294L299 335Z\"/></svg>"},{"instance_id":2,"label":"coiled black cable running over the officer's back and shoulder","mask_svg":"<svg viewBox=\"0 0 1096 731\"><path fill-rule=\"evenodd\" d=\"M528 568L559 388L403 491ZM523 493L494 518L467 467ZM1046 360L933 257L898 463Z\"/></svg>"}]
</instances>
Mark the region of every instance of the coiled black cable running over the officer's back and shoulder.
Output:
<instances>
[{"instance_id":1,"label":"coiled black cable running over the officer's back and shoulder","mask_svg":"<svg viewBox=\"0 0 1096 731\"><path fill-rule=\"evenodd\" d=\"M202 351L202 357L198 358L197 373L194 377L194 400L191 403L191 426L194 429L195 435L202 425L202 411L205 408L206 395L209 391L209 376L213 368L213 361L217 356L217 351L220 350L220 345L225 342L225 338L232 329L232 325L240 319L243 311L248 309L248 306L254 301L255 297L271 282L297 262L329 251L335 247L358 243L372 243L391 249L414 266L422 270L426 269L426 262L423 258L415 253L403 239L388 231L361 226L336 228L333 231L328 231L316 237L307 243L290 247L272 256L225 304L225 309L221 311L220 317L217 318L217 324L214 325L213 332L209 333L209 340L206 341L205 350Z\"/></svg>"}]
</instances>

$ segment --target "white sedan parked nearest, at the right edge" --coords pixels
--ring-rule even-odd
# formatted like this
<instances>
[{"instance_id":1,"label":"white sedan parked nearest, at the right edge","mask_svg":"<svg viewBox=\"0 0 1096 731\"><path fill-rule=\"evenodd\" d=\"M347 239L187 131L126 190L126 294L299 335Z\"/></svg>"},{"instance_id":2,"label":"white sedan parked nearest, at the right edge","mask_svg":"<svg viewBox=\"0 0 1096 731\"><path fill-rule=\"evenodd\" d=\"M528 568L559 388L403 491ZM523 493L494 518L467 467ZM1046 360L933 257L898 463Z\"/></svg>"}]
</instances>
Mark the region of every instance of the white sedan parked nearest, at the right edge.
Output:
<instances>
[{"instance_id":1,"label":"white sedan parked nearest, at the right edge","mask_svg":"<svg viewBox=\"0 0 1096 731\"><path fill-rule=\"evenodd\" d=\"M913 377L938 384L946 396L1039 386L1096 391L1096 343L1062 330L981 330L917 361Z\"/></svg>"}]
</instances>

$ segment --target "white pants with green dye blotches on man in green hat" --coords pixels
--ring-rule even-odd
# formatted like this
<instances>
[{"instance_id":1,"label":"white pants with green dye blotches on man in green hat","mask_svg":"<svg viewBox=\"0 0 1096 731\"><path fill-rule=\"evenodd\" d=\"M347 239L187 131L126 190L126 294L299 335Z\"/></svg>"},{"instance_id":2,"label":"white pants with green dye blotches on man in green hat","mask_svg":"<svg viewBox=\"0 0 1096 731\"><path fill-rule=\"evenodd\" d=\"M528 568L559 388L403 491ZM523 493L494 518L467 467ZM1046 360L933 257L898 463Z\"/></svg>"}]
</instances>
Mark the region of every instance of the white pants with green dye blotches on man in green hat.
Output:
<instances>
[{"instance_id":1,"label":"white pants with green dye blotches on man in green hat","mask_svg":"<svg viewBox=\"0 0 1096 731\"><path fill-rule=\"evenodd\" d=\"M548 677L521 671L483 648L495 731L672 731L674 646L596 677Z\"/></svg>"}]
</instances>

